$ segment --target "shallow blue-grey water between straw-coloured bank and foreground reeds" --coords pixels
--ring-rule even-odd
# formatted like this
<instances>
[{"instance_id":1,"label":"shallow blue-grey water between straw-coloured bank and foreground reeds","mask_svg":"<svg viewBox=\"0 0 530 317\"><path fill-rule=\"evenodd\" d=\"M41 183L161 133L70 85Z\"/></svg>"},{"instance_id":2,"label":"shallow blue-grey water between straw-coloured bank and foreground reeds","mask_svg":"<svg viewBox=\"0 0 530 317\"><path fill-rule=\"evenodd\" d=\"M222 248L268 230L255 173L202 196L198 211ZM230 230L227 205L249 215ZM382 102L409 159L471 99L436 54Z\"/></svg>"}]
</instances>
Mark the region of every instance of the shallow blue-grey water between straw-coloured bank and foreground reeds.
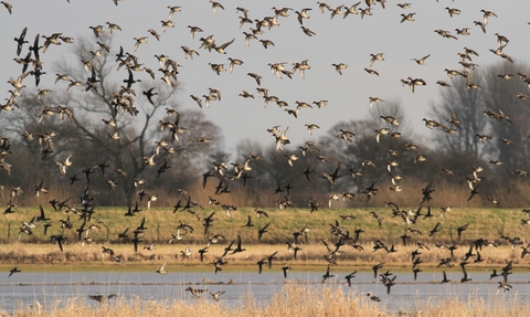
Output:
<instances>
[{"instance_id":1,"label":"shallow blue-grey water between straw-coloured bank and foreground reeds","mask_svg":"<svg viewBox=\"0 0 530 317\"><path fill-rule=\"evenodd\" d=\"M344 294L354 292L364 296L373 292L382 302L379 304L388 311L410 311L421 308L422 305L458 298L463 303L468 299L484 299L486 305L495 305L497 302L517 305L530 305L530 274L515 272L509 276L509 284L513 286L511 292L499 292L498 282L501 277L489 281L489 273L469 272L469 283L460 283L462 272L458 270L446 271L452 283L441 284L442 272L420 273L416 282L412 273L396 273L396 285L391 294L386 294L386 287L375 278L373 273L358 273L352 279L352 287L348 287L344 276L350 272L333 272L335 276L326 282L332 287L342 287ZM307 285L307 287L320 287L324 272L289 272L288 281ZM211 283L204 285L204 278ZM233 283L230 283L230 281ZM0 309L12 313L15 308L30 306L38 300L45 309L56 305L66 305L71 298L86 299L91 305L97 302L88 300L87 295L117 294L126 299L135 300L137 297L142 302L148 300L197 300L184 289L192 285L194 288L206 288L209 292L225 290L222 296L224 305L236 307L244 304L247 296L254 298L259 306L267 305L271 297L284 286L284 278L279 270L264 270L263 274L252 272L241 273L178 273L170 272L168 275L159 275L146 272L97 272L97 273L17 273L9 278L2 278L0 283ZM203 294L205 300L213 300L210 294ZM59 303L59 304L57 304Z\"/></svg>"}]
</instances>

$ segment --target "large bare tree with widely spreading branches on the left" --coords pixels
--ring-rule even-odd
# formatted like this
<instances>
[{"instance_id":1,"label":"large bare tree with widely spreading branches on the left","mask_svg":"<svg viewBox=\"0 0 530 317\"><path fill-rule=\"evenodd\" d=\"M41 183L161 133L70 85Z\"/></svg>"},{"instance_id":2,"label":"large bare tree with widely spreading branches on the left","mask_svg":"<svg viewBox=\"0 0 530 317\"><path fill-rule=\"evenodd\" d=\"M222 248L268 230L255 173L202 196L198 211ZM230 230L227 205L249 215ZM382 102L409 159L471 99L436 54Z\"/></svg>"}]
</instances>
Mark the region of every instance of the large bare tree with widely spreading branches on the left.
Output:
<instances>
[{"instance_id":1,"label":"large bare tree with widely spreading branches on the left","mask_svg":"<svg viewBox=\"0 0 530 317\"><path fill-rule=\"evenodd\" d=\"M100 35L98 41L112 47L110 36ZM67 87L59 80L47 96L29 93L21 110L2 118L11 121L13 135L35 133L39 137L24 142L33 155L47 154L44 165L55 176L60 173L56 162L73 155L66 170L80 173L91 189L107 192L99 196L99 203L130 203L137 190L135 179L145 178L156 190L156 181L162 182L166 172L178 176L168 178L173 184L199 178L193 175L197 160L222 146L219 127L201 112L180 110L174 78L168 78L169 84L155 82L132 54L119 52L115 60L105 50L95 53L93 42L76 41L77 64L56 63L57 78L66 75ZM174 72L170 63L162 70L169 77ZM50 131L56 137L43 141L41 136Z\"/></svg>"}]
</instances>

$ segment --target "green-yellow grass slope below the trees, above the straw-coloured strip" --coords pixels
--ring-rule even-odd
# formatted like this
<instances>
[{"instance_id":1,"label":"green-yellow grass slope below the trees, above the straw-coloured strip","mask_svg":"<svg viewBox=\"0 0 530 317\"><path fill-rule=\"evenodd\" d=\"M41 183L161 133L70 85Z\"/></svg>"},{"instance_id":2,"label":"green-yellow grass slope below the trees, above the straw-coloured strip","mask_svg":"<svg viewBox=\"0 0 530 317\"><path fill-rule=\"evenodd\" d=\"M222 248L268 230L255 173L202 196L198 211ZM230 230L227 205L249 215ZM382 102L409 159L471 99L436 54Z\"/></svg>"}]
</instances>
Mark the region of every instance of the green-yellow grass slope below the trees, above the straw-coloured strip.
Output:
<instances>
[{"instance_id":1,"label":"green-yellow grass slope below the trees, above the straw-coloured strip","mask_svg":"<svg viewBox=\"0 0 530 317\"><path fill-rule=\"evenodd\" d=\"M61 220L66 220L70 216L74 228L72 230L65 230L64 235L67 237L66 244L73 244L77 241L76 229L81 226L82 221L73 213L55 212L53 209L45 207L46 218L49 221L41 222L35 229L33 229L33 235L21 234L21 243L38 243L47 242L50 235L60 234ZM409 209L409 208L407 208ZM405 210L407 210L405 209ZM416 211L417 207L414 207ZM427 212L427 208L424 207L421 211L422 214ZM124 216L127 209L124 208L96 208L92 221L88 224L97 224L102 229L95 229L89 232L89 236L98 243L119 243L118 234L129 228L128 235L132 236L132 231L140 224L142 218L146 218L146 230L142 233L145 243L168 242L171 237L171 233L177 233L177 225L179 222L190 224L194 231L184 235L184 239L178 243L182 244L201 244L206 243L208 236L204 235L204 228L202 225L203 218L206 218L212 212L215 212L213 224L210 228L210 235L223 234L230 241L235 239L237 234L241 234L243 241L246 244L280 244L286 241L293 240L293 233L299 231L304 226L311 228L311 232L308 234L308 242L315 243L320 239L328 239L329 224L339 221L339 224L343 226L350 234L353 235L356 229L362 229L364 232L360 236L360 242L372 242L377 239L382 239L388 243L399 244L400 236L404 234L407 225L403 224L401 218L392 218L391 208L373 208L373 209L319 209L310 213L309 209L294 209L287 208L280 209L263 209L269 215L269 218L257 218L255 209L253 208L240 208L237 211L232 212L232 216L229 218L224 210L221 208L212 209L206 208L204 210L194 209L199 214L199 220L186 211L172 212L172 209L150 209L136 213L135 216ZM379 215L383 216L383 223L378 225L378 221L370 213L374 211ZM39 208L19 208L14 213L3 214L3 221L0 222L0 241L1 242L15 242L18 241L19 228L22 222L30 222L32 216L39 215ZM527 239L529 236L526 228L520 228L520 220L526 219L526 214L520 209L457 209L453 208L452 211L445 213L444 218L441 218L441 209L432 209L434 216L424 219L420 216L416 224L411 225L414 229L422 231L423 234L409 234L413 239L421 239L426 242L439 242L439 243L463 243L466 244L478 237L487 240L498 240L502 234L510 236L520 236ZM244 228L247 222L248 215L252 218L253 226ZM340 215L353 215L354 220L341 221ZM108 225L108 231L96 222L96 219L102 220ZM261 242L257 241L257 230L263 228L266 223L271 222L268 232L263 235ZM428 231L434 225L441 222L439 232L433 237L428 237ZM52 226L47 229L47 235L43 235L43 224L51 223ZM468 229L463 232L462 240L458 241L456 229L466 223L469 223ZM85 228L87 226L85 225ZM182 233L182 232L181 232ZM83 236L85 233L83 234Z\"/></svg>"}]
</instances>

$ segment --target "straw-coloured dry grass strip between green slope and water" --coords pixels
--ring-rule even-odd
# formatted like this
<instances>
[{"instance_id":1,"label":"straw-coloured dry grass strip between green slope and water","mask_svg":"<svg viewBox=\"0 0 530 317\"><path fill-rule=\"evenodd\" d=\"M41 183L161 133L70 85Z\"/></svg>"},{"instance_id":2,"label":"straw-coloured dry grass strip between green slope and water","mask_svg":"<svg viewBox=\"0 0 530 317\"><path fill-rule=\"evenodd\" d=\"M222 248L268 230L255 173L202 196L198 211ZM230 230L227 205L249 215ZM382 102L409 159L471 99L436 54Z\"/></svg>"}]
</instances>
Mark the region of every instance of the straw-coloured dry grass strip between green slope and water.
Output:
<instances>
[{"instance_id":1,"label":"straw-coloured dry grass strip between green slope and water","mask_svg":"<svg viewBox=\"0 0 530 317\"><path fill-rule=\"evenodd\" d=\"M119 267L128 267L128 270L149 271L168 262L167 270L170 272L180 271L213 271L211 263L214 258L222 255L226 243L222 245L212 245L204 255L204 262L200 261L198 250L203 247L199 244L190 244L192 256L180 260L180 251L184 245L157 245L157 250L149 252L140 250L135 253L130 245L112 245L116 255L124 258L123 263L115 263L107 255L105 258L100 254L100 245L91 245L82 247L73 245L71 250L64 253L59 252L56 245L39 245L26 244L23 249L17 247L15 244L0 244L0 267L10 267L12 265L23 265L25 270L54 270L54 265L68 266L72 265L73 271L100 271L100 270L119 270ZM364 251L357 251L346 245L342 246L340 256L337 256L336 270L356 270L369 271L372 265L385 262L386 267L393 270L409 271L412 267L412 251L416 250L416 245L395 245L396 253L386 254L385 251L372 252L373 243L362 244ZM13 247L14 246L14 247ZM243 245L245 247L245 245ZM256 262L278 251L277 266L288 263L297 271L320 271L328 265L322 256L327 254L327 250L322 244L301 244L303 250L298 252L297 260L287 251L285 244L263 244L246 246L247 251L224 257L229 263L224 266L224 271L254 271L257 270ZM14 249L14 250L13 250ZM468 246L460 246L455 252L455 263L464 260L464 254L468 251ZM431 251L421 250L420 255L423 268L436 267L441 258L449 257L449 251L445 249L432 247ZM481 263L471 263L468 270L486 270L506 265L506 260L513 261L513 265L518 268L530 267L526 258L520 257L520 251L513 252L508 245L498 247L484 247L480 252ZM49 267L51 265L51 267ZM33 267L33 268L32 268ZM279 270L279 268L277 268Z\"/></svg>"}]
</instances>

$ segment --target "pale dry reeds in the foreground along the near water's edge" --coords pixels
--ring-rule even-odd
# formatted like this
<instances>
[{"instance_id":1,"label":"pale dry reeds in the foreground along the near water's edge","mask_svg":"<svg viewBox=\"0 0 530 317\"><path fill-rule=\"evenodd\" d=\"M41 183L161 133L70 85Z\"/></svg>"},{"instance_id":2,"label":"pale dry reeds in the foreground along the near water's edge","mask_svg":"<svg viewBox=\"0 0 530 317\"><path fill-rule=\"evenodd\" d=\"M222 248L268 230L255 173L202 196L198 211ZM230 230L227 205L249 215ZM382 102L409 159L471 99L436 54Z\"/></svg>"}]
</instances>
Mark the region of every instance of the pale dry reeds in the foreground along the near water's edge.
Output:
<instances>
[{"instance_id":1,"label":"pale dry reeds in the foreground along the near water's edge","mask_svg":"<svg viewBox=\"0 0 530 317\"><path fill-rule=\"evenodd\" d=\"M504 300L496 297L492 303L469 297L466 302L455 298L428 300L412 311L385 311L382 304L372 302L364 294L344 293L342 288L322 286L311 288L303 285L285 285L267 305L256 305L252 294L245 297L240 306L229 307L205 298L199 300L147 302L139 298L110 299L107 303L93 305L87 298L74 297L66 303L54 303L44 307L35 302L33 305L18 308L13 316L530 316L526 304L517 299ZM8 315L6 315L8 316Z\"/></svg>"}]
</instances>

